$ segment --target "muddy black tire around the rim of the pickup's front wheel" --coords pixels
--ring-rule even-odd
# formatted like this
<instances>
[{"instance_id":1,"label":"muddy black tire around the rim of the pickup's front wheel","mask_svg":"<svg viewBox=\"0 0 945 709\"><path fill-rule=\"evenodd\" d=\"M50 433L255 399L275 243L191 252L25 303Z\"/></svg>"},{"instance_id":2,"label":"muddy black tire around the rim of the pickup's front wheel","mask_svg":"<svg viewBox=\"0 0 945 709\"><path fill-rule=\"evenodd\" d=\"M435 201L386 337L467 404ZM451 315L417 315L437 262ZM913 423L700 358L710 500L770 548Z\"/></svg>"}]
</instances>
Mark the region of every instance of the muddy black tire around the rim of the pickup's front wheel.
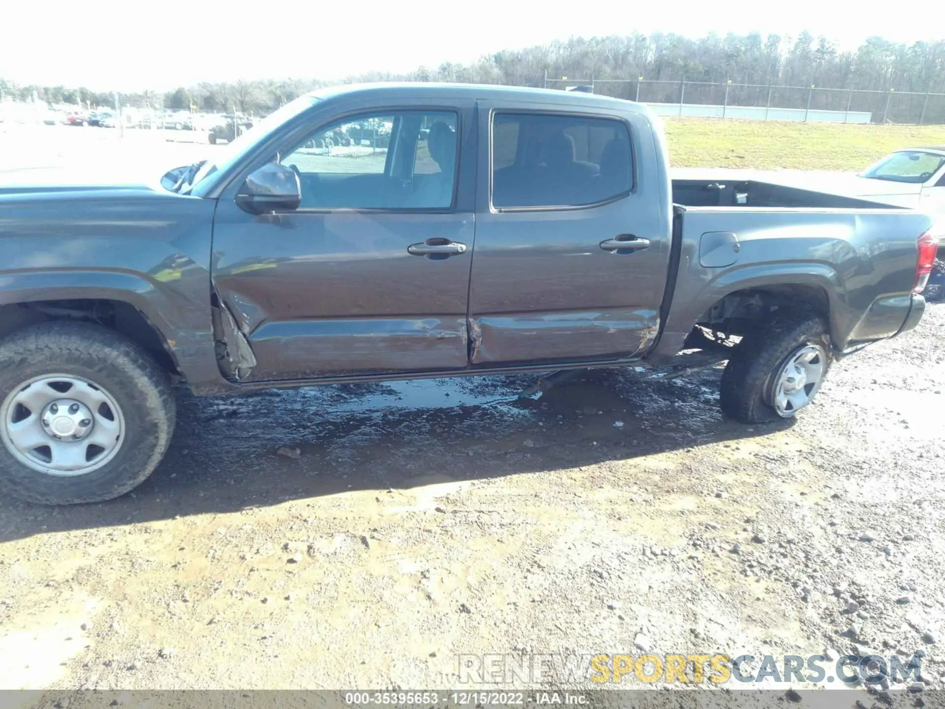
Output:
<instances>
[{"instance_id":1,"label":"muddy black tire around the rim of the pickup's front wheel","mask_svg":"<svg viewBox=\"0 0 945 709\"><path fill-rule=\"evenodd\" d=\"M176 403L167 373L128 339L92 323L44 322L0 341L0 403L29 379L53 373L82 377L108 391L124 415L124 440L114 458L79 476L33 470L0 441L0 493L75 505L110 500L144 482L174 432Z\"/></svg>"}]
</instances>

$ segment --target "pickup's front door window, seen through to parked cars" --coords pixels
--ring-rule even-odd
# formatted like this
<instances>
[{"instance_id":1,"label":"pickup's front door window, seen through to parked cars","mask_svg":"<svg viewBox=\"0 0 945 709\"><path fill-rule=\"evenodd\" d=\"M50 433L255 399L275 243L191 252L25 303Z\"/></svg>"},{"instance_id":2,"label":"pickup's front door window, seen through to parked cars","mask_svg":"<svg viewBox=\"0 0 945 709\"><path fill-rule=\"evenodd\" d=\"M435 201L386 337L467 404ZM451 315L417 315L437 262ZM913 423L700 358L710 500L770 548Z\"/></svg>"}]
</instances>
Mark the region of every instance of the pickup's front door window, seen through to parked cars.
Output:
<instances>
[{"instance_id":1,"label":"pickup's front door window, seen through to parked cars","mask_svg":"<svg viewBox=\"0 0 945 709\"><path fill-rule=\"evenodd\" d=\"M445 209L453 203L455 112L352 116L280 162L299 173L302 209Z\"/></svg>"}]
</instances>

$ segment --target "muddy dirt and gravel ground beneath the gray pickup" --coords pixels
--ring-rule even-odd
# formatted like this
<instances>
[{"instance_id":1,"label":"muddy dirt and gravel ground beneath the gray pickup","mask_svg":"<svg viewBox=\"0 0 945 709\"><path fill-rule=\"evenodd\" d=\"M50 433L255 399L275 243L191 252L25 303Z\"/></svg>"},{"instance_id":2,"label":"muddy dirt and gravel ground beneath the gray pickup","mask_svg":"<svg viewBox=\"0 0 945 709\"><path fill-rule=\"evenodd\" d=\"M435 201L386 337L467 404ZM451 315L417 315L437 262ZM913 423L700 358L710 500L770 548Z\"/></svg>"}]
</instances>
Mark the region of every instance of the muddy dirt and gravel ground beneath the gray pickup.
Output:
<instances>
[{"instance_id":1,"label":"muddy dirt and gravel ground beneath the gray pickup","mask_svg":"<svg viewBox=\"0 0 945 709\"><path fill-rule=\"evenodd\" d=\"M644 648L920 650L939 688L943 341L930 306L753 427L718 370L183 395L136 492L0 500L0 688L455 689L460 655Z\"/></svg>"}]
</instances>

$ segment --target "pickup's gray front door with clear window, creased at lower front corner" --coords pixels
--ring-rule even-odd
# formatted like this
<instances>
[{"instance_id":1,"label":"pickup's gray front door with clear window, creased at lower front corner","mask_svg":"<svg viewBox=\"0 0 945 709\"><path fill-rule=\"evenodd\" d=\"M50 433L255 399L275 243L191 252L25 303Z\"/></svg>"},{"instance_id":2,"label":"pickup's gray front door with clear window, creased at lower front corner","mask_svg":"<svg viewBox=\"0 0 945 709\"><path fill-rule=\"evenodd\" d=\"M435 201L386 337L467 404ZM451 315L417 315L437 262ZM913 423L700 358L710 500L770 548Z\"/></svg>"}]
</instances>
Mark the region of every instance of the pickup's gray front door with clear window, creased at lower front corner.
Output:
<instances>
[{"instance_id":1,"label":"pickup's gray front door with clear window, creased at lower front corner","mask_svg":"<svg viewBox=\"0 0 945 709\"><path fill-rule=\"evenodd\" d=\"M300 176L298 210L220 200L213 281L255 355L249 381L468 365L472 114L379 108L313 126L274 156Z\"/></svg>"}]
</instances>

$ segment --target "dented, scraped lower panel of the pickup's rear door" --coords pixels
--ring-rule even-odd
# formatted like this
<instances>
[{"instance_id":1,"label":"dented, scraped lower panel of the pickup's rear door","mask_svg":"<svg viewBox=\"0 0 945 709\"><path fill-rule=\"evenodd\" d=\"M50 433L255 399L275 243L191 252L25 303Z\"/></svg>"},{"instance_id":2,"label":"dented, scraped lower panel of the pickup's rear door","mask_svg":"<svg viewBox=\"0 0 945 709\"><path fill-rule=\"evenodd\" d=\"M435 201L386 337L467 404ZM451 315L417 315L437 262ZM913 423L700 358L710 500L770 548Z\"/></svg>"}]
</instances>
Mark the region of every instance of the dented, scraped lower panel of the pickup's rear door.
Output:
<instances>
[{"instance_id":1,"label":"dented, scraped lower panel of the pickup's rear door","mask_svg":"<svg viewBox=\"0 0 945 709\"><path fill-rule=\"evenodd\" d=\"M659 330L655 310L482 315L470 319L472 364L616 359L632 356Z\"/></svg>"}]
</instances>

